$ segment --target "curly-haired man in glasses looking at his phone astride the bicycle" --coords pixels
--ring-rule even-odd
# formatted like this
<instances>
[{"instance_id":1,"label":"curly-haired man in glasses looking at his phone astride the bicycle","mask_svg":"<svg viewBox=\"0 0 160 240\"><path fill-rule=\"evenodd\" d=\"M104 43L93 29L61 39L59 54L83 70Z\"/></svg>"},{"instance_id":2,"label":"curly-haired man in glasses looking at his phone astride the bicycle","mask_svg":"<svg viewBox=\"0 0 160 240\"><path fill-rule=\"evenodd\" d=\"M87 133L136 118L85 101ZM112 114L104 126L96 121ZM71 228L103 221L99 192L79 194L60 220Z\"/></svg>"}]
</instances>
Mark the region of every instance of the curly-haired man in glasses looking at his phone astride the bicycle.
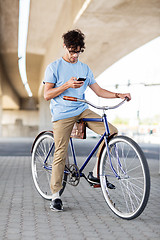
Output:
<instances>
[{"instance_id":1,"label":"curly-haired man in glasses looking at his phone astride the bicycle","mask_svg":"<svg viewBox=\"0 0 160 240\"><path fill-rule=\"evenodd\" d=\"M113 93L101 88L95 81L90 68L78 60L79 55L85 49L84 34L76 29L63 34L63 47L65 53L62 58L48 65L45 72L44 98L51 100L50 109L53 121L55 152L52 164L51 190L53 211L62 211L63 205L59 196L62 188L62 178L65 167L65 159L68 142L74 123L81 118L100 117L88 109L88 105L82 102L70 102L63 100L63 96L72 96L84 99L84 92L89 86L97 96L103 98L128 97L129 93ZM94 57L94 56L93 56ZM78 78L86 78L85 81L77 81ZM104 133L103 123L88 122L87 126L98 134ZM109 124L110 133L117 133L117 129ZM96 167L88 180L96 183Z\"/></svg>"}]
</instances>

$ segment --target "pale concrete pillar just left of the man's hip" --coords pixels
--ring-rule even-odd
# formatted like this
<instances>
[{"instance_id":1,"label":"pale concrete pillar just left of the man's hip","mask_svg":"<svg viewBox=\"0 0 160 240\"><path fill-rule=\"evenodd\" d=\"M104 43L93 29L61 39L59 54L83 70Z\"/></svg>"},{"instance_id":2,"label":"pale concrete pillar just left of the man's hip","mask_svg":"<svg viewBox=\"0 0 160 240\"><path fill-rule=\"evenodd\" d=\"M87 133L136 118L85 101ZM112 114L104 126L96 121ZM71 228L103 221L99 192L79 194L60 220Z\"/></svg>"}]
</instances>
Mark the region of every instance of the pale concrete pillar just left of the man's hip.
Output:
<instances>
[{"instance_id":1,"label":"pale concrete pillar just left of the man's hip","mask_svg":"<svg viewBox=\"0 0 160 240\"><path fill-rule=\"evenodd\" d=\"M49 103L43 97L39 98L39 132L53 130Z\"/></svg>"}]
</instances>

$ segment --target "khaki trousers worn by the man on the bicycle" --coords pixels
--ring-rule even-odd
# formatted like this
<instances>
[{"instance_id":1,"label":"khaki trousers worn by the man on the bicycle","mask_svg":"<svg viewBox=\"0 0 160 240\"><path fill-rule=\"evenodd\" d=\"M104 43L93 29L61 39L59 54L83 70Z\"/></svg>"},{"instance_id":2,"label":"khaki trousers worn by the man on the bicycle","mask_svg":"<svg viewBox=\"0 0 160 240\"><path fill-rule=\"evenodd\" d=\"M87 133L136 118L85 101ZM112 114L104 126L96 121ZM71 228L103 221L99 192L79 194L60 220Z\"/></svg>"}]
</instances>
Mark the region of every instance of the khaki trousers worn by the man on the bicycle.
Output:
<instances>
[{"instance_id":1,"label":"khaki trousers worn by the man on the bicycle","mask_svg":"<svg viewBox=\"0 0 160 240\"><path fill-rule=\"evenodd\" d=\"M81 118L100 118L98 114L86 109L80 115L55 121L53 123L55 152L52 163L51 190L52 193L58 192L62 188L63 172L65 168L65 159L68 149L69 138L74 123ZM117 133L117 129L108 123L110 134ZM87 127L94 132L102 135L105 131L103 122L87 122Z\"/></svg>"}]
</instances>

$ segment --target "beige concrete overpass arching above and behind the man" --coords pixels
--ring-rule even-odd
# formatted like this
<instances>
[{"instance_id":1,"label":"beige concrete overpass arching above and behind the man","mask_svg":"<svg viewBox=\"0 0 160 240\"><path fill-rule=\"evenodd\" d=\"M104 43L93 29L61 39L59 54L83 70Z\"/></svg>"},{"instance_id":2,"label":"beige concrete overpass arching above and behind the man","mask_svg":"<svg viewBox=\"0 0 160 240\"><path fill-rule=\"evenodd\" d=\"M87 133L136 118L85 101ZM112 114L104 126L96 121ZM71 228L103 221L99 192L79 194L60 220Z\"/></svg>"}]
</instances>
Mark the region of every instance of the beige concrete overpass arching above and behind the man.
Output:
<instances>
[{"instance_id":1,"label":"beige concrete overpass arching above and behind the man","mask_svg":"<svg viewBox=\"0 0 160 240\"><path fill-rule=\"evenodd\" d=\"M61 35L73 28L85 33L80 59L97 77L160 35L160 0L30 0L26 72L33 97L18 69L18 0L0 0L0 24L0 135L34 136L51 128L42 81L46 66L63 54Z\"/></svg>"}]
</instances>

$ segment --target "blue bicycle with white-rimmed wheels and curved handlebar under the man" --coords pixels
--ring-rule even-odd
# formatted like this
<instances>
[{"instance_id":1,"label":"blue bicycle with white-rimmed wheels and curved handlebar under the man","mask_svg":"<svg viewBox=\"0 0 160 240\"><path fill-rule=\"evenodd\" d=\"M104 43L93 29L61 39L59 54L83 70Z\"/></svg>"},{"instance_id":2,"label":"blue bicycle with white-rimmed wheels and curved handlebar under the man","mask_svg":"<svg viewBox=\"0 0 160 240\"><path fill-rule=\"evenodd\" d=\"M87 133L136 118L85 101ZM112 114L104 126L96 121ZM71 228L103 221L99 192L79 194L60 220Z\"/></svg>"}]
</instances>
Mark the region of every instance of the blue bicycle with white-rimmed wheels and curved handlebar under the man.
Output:
<instances>
[{"instance_id":1,"label":"blue bicycle with white-rimmed wheels and curved handlebar under the man","mask_svg":"<svg viewBox=\"0 0 160 240\"><path fill-rule=\"evenodd\" d=\"M139 145L127 136L110 136L105 111L116 109L128 99L115 106L99 107L84 99L64 97L65 100L80 101L94 108L103 110L102 118L83 121L100 121L104 123L105 133L98 140L84 164L79 168L76 160L73 140L70 138L70 148L74 162L66 158L63 177L63 193L66 183L77 186L80 178L86 176L84 168L104 140L98 159L100 185L105 201L114 214L120 218L131 220L138 217L145 209L150 194L150 173L145 155ZM50 177L54 153L54 135L52 131L44 131L35 139L32 147L32 176L39 194L51 200ZM113 187L110 187L111 186ZM95 186L94 187L98 187Z\"/></svg>"}]
</instances>

